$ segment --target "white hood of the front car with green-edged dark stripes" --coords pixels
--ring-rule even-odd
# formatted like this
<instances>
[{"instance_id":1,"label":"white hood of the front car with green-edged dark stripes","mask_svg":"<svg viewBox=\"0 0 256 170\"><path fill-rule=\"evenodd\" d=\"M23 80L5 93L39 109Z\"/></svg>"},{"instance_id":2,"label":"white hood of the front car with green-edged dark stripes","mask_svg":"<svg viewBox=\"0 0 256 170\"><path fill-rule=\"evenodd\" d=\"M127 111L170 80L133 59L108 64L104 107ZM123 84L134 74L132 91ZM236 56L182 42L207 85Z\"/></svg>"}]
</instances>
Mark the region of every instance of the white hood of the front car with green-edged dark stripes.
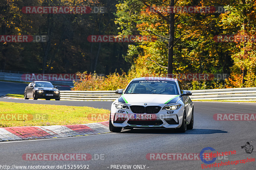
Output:
<instances>
[{"instance_id":1,"label":"white hood of the front car with green-edged dark stripes","mask_svg":"<svg viewBox=\"0 0 256 170\"><path fill-rule=\"evenodd\" d=\"M124 99L124 101L126 103L142 103L143 102L143 103L161 103L161 104L167 104L170 100L172 100L178 96L180 96L180 95L177 95L177 94L175 94L175 95L171 95L171 94L122 94L121 95L121 97Z\"/></svg>"}]
</instances>

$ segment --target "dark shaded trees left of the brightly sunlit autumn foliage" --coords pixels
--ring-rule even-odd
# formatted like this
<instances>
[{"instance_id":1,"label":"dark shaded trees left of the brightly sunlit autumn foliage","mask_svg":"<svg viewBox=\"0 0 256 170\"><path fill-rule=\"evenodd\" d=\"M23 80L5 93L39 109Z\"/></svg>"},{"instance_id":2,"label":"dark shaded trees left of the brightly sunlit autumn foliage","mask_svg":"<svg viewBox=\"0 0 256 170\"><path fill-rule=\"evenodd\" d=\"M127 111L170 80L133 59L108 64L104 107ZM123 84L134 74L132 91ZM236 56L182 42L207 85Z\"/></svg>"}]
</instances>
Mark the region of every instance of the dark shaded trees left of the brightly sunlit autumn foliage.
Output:
<instances>
[{"instance_id":1,"label":"dark shaded trees left of the brightly sunlit autumn foliage","mask_svg":"<svg viewBox=\"0 0 256 170\"><path fill-rule=\"evenodd\" d=\"M122 57L127 43L92 43L89 35L115 35L115 0L2 0L1 35L47 35L43 43L0 43L0 70L30 73L76 73L87 70L109 74L131 64ZM25 6L105 7L104 13L23 13ZM115 64L111 64L115 61ZM120 71L121 72L121 71Z\"/></svg>"}]
</instances>

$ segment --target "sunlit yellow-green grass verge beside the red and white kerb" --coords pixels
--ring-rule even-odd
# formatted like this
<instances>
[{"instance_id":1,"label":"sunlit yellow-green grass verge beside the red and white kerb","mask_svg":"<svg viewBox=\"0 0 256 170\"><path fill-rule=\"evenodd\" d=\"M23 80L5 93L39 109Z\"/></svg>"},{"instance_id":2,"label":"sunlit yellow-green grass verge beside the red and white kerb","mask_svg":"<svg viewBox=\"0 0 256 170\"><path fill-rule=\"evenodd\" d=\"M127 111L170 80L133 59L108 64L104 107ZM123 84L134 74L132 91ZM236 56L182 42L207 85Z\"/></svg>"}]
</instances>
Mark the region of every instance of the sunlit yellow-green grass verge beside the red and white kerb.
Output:
<instances>
[{"instance_id":1,"label":"sunlit yellow-green grass verge beside the red and white kerb","mask_svg":"<svg viewBox=\"0 0 256 170\"><path fill-rule=\"evenodd\" d=\"M109 113L93 107L0 102L0 127L102 122L108 120Z\"/></svg>"}]
</instances>

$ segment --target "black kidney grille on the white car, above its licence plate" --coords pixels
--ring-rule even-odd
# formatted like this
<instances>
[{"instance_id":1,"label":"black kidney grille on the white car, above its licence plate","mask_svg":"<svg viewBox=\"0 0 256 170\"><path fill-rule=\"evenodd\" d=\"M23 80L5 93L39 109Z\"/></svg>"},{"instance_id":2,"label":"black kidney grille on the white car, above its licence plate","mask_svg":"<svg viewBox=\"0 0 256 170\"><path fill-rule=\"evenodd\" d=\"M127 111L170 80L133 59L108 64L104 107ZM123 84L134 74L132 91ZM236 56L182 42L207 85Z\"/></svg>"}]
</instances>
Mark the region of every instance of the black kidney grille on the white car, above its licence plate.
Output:
<instances>
[{"instance_id":1,"label":"black kidney grille on the white car, above its licence plate","mask_svg":"<svg viewBox=\"0 0 256 170\"><path fill-rule=\"evenodd\" d=\"M156 114L160 111L161 107L160 106L130 106L131 110L133 113L137 114Z\"/></svg>"}]
</instances>

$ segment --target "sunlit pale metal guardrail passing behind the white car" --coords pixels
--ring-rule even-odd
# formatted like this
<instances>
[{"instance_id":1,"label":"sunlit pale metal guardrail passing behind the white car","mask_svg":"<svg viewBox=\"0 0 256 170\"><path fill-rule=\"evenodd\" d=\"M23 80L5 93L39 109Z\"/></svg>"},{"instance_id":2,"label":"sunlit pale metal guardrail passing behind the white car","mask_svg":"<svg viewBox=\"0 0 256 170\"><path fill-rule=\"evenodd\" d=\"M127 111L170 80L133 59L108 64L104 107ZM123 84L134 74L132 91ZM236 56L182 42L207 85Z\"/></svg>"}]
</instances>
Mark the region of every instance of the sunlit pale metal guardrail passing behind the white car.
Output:
<instances>
[{"instance_id":1,"label":"sunlit pale metal guardrail passing behind the white car","mask_svg":"<svg viewBox=\"0 0 256 170\"><path fill-rule=\"evenodd\" d=\"M192 100L256 100L256 87L191 90ZM114 101L120 95L115 91L60 91L61 100Z\"/></svg>"}]
</instances>

